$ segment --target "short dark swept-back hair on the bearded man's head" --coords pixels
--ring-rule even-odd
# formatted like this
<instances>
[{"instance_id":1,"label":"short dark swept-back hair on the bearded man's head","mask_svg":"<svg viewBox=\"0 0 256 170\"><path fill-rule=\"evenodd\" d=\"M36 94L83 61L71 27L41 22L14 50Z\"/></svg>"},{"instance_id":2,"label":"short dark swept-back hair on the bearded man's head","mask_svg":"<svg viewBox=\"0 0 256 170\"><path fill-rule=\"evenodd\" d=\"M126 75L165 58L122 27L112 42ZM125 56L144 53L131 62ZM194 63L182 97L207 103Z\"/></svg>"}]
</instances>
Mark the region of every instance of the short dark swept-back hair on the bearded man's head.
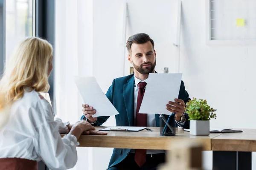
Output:
<instances>
[{"instance_id":1,"label":"short dark swept-back hair on the bearded man's head","mask_svg":"<svg viewBox=\"0 0 256 170\"><path fill-rule=\"evenodd\" d=\"M151 42L151 44L153 45L153 49L154 49L154 41L149 37L148 34L139 33L139 34L132 35L131 37L128 38L128 40L126 42L126 48L128 50L128 53L131 54L131 45L132 45L132 43L144 44L148 41Z\"/></svg>"}]
</instances>

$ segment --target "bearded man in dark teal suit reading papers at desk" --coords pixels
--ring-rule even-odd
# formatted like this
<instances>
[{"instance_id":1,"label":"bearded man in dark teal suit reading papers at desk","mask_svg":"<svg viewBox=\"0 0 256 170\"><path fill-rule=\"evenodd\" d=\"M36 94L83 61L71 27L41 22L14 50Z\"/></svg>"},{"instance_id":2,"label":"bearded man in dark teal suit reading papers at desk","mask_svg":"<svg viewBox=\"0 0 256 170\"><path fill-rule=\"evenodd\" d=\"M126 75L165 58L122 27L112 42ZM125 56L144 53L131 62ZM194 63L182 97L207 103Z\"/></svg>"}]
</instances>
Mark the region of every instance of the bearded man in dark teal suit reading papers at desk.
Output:
<instances>
[{"instance_id":1,"label":"bearded man in dark teal suit reading papers at desk","mask_svg":"<svg viewBox=\"0 0 256 170\"><path fill-rule=\"evenodd\" d=\"M128 60L134 66L134 74L114 79L106 94L119 112L116 115L116 125L159 127L159 114L138 114L148 74L156 73L154 41L147 34L140 33L129 37L126 46ZM185 113L188 100L189 94L181 81L178 99L166 104L168 111L176 113L176 123L180 127L189 128L189 116ZM109 118L109 116L93 118L92 115L96 110L88 104L83 104L83 112L81 119L86 117L94 126L102 125ZM157 165L164 161L164 150L114 148L108 170L155 170Z\"/></svg>"}]
</instances>

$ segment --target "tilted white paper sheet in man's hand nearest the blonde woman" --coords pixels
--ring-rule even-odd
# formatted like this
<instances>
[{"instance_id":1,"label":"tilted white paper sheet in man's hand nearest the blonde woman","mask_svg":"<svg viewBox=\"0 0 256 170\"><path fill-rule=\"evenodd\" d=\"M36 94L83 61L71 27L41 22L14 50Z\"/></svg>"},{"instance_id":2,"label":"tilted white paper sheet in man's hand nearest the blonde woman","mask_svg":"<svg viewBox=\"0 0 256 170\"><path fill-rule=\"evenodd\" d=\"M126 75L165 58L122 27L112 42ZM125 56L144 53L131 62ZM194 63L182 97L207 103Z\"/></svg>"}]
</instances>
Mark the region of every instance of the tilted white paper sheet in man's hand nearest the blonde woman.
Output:
<instances>
[{"instance_id":1,"label":"tilted white paper sheet in man's hand nearest the blonde woman","mask_svg":"<svg viewBox=\"0 0 256 170\"><path fill-rule=\"evenodd\" d=\"M75 83L84 103L96 109L93 117L119 114L99 87L95 77L75 77Z\"/></svg>"}]
</instances>

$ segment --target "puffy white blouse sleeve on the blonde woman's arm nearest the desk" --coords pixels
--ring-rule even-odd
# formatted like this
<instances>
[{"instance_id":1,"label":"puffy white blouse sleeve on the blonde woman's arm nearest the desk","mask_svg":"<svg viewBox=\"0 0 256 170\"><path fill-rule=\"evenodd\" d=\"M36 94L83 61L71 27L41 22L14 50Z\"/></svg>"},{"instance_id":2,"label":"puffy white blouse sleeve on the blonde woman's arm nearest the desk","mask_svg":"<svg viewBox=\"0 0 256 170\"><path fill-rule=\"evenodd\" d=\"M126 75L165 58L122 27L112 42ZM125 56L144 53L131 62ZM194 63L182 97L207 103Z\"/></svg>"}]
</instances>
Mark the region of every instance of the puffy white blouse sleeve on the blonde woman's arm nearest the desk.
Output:
<instances>
[{"instance_id":1,"label":"puffy white blouse sleeve on the blonde woman's arm nearest the desk","mask_svg":"<svg viewBox=\"0 0 256 170\"><path fill-rule=\"evenodd\" d=\"M34 114L45 115L41 125L35 127L37 132L35 150L41 160L52 170L65 170L75 166L77 161L76 146L79 145L76 136L71 134L61 138L58 132L59 122L54 121L52 107L37 105L30 109ZM42 117L42 119L44 119Z\"/></svg>"}]
</instances>

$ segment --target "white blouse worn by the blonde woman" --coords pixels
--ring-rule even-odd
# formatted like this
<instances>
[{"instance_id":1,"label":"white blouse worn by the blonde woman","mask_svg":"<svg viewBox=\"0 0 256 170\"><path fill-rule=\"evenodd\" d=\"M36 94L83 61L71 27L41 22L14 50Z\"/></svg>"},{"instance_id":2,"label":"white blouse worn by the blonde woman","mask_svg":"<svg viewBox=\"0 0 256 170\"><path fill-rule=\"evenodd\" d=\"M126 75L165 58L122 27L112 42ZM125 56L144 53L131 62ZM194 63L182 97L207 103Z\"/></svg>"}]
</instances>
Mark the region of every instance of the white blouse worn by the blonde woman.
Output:
<instances>
[{"instance_id":1,"label":"white blouse worn by the blonde woman","mask_svg":"<svg viewBox=\"0 0 256 170\"><path fill-rule=\"evenodd\" d=\"M52 170L74 167L78 142L70 134L61 138L60 123L54 121L52 107L41 94L25 92L0 129L0 158L42 160Z\"/></svg>"}]
</instances>

